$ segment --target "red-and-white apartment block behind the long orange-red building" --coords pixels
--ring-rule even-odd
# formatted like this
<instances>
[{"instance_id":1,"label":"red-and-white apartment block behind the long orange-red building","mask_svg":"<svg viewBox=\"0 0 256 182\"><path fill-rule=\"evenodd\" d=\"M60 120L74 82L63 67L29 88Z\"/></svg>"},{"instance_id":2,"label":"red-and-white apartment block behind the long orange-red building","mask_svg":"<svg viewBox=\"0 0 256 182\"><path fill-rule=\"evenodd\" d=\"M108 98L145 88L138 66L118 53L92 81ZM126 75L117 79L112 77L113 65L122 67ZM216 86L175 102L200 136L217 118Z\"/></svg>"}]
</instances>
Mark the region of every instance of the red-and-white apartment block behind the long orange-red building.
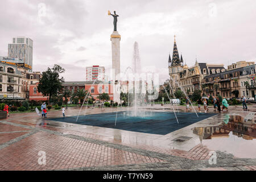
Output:
<instances>
[{"instance_id":1,"label":"red-and-white apartment block behind the long orange-red building","mask_svg":"<svg viewBox=\"0 0 256 182\"><path fill-rule=\"evenodd\" d=\"M86 67L86 81L105 81L105 67Z\"/></svg>"}]
</instances>

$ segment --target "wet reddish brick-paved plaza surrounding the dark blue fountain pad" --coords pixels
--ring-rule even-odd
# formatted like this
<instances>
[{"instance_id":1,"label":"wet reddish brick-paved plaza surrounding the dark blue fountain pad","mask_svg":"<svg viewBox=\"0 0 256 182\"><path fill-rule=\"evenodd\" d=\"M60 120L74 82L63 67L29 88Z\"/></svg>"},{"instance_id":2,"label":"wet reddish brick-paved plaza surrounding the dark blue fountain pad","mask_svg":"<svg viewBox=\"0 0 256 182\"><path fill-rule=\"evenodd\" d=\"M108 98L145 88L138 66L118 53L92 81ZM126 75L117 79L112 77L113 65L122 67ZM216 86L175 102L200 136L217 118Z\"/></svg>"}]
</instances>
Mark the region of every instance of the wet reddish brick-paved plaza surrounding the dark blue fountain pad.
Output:
<instances>
[{"instance_id":1,"label":"wet reddish brick-paved plaza surrounding the dark blue fountain pad","mask_svg":"<svg viewBox=\"0 0 256 182\"><path fill-rule=\"evenodd\" d=\"M171 105L147 107L172 111ZM184 109L179 106L179 112ZM47 119L10 114L0 120L0 170L256 170L256 105L249 109L230 106L166 135L48 120L61 117L55 110ZM69 107L65 115L79 110ZM81 115L112 111L116 108L84 107Z\"/></svg>"}]
</instances>

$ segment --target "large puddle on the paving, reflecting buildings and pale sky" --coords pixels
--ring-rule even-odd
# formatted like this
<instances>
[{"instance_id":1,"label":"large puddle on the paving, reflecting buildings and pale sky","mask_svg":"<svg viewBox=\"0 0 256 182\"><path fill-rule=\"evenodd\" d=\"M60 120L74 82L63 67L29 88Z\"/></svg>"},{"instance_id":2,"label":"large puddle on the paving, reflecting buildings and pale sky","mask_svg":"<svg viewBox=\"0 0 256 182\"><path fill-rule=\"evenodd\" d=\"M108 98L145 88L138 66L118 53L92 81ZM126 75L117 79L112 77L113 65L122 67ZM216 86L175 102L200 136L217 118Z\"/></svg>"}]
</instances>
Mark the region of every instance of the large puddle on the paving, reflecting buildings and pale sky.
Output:
<instances>
[{"instance_id":1,"label":"large puddle on the paving, reflecting buildings and pale sky","mask_svg":"<svg viewBox=\"0 0 256 182\"><path fill-rule=\"evenodd\" d=\"M254 113L246 117L226 114L219 126L195 127L200 142L210 150L226 151L240 158L256 158L256 125Z\"/></svg>"}]
</instances>

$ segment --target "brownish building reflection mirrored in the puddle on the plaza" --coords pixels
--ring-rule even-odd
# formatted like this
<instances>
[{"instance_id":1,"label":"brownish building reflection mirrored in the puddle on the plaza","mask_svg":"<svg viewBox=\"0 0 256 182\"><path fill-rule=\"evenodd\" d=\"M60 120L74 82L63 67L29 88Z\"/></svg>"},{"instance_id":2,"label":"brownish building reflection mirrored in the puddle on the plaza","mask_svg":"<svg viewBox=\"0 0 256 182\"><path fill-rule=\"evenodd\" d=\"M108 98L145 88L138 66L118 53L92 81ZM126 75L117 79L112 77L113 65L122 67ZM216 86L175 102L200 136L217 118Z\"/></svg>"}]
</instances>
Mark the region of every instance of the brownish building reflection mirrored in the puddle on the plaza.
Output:
<instances>
[{"instance_id":1,"label":"brownish building reflection mirrored in the puddle on the plaza","mask_svg":"<svg viewBox=\"0 0 256 182\"><path fill-rule=\"evenodd\" d=\"M220 126L195 127L193 133L199 135L200 142L204 139L229 137L229 133L246 140L256 138L255 117L246 119L241 115L225 115Z\"/></svg>"}]
</instances>

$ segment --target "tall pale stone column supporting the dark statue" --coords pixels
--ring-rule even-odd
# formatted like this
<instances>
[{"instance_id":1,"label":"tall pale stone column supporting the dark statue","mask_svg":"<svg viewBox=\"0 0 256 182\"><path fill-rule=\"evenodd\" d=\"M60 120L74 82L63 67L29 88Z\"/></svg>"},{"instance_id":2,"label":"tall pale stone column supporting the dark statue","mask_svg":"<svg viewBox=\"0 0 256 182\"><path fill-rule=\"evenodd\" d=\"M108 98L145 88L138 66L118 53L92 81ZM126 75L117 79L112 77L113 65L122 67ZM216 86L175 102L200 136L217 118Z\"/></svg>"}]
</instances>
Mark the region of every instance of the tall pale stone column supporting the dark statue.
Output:
<instances>
[{"instance_id":1,"label":"tall pale stone column supporting the dark statue","mask_svg":"<svg viewBox=\"0 0 256 182\"><path fill-rule=\"evenodd\" d=\"M121 35L118 34L118 31L113 31L113 34L110 38L112 42L112 69L113 69L113 101L120 102L120 40Z\"/></svg>"}]
</instances>

